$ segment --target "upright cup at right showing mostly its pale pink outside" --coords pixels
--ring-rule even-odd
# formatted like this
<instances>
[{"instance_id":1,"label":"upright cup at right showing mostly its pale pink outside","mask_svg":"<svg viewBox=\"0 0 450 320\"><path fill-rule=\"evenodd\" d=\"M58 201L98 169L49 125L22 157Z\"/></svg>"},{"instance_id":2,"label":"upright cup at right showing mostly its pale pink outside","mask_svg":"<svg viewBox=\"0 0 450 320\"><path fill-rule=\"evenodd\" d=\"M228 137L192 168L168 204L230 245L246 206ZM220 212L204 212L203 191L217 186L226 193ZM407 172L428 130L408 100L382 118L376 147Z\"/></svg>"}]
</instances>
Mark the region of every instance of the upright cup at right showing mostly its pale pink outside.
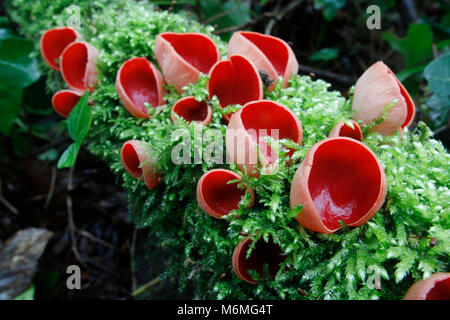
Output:
<instances>
[{"instance_id":1,"label":"upright cup at right showing mostly its pale pink outside","mask_svg":"<svg viewBox=\"0 0 450 320\"><path fill-rule=\"evenodd\" d=\"M384 118L372 128L383 135L393 135L408 127L415 114L408 91L381 61L374 63L356 82L352 108L353 119L363 124Z\"/></svg>"}]
</instances>

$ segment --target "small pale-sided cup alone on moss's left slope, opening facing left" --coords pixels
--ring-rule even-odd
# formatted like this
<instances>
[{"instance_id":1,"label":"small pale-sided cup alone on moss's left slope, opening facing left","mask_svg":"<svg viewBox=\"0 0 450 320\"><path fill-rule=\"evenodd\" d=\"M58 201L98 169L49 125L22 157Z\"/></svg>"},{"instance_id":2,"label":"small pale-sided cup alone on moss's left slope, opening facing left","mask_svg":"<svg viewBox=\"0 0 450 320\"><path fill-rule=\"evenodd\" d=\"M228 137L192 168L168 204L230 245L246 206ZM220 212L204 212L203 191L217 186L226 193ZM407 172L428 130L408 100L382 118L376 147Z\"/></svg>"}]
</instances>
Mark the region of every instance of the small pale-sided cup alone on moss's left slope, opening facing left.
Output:
<instances>
[{"instance_id":1,"label":"small pale-sided cup alone on moss's left slope, opening facing left","mask_svg":"<svg viewBox=\"0 0 450 320\"><path fill-rule=\"evenodd\" d=\"M151 150L147 143L139 140L125 142L120 151L122 164L127 172L136 179L142 179L148 189L155 189L161 176L154 171L155 158L150 158Z\"/></svg>"}]
</instances>

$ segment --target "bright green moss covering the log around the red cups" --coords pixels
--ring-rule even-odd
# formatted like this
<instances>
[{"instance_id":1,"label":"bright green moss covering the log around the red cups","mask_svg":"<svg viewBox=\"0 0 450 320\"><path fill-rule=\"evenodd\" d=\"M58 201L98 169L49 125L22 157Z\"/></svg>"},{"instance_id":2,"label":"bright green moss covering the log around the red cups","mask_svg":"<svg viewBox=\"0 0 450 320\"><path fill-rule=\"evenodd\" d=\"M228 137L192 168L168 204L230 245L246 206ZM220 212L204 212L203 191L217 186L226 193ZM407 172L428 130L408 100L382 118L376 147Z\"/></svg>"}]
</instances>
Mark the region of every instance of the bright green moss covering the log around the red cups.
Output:
<instances>
[{"instance_id":1,"label":"bright green moss covering the log around the red cups","mask_svg":"<svg viewBox=\"0 0 450 320\"><path fill-rule=\"evenodd\" d=\"M272 93L266 92L267 99L284 104L302 122L303 145L289 144L297 150L291 166L280 165L276 175L259 180L243 177L256 192L253 208L247 208L247 196L241 208L226 219L212 219L202 212L195 200L196 182L213 165L175 165L170 158L178 143L171 139L175 130L184 127L194 139L194 131L202 127L172 124L170 107L181 96L170 88L168 104L157 108L150 120L134 119L121 106L114 80L126 59L146 56L155 62L152 48L158 33L191 31L211 36L213 29L186 17L154 11L146 1L108 2L77 2L83 17L81 32L100 50L101 58L99 86L92 95L94 120L88 148L110 165L118 183L128 191L131 218L137 226L147 228L168 253L169 267L163 277L176 275L180 290L192 282L201 298L398 299L414 281L449 270L450 156L424 124L414 132L406 131L403 137L366 137L364 142L384 165L388 181L385 205L367 224L321 235L304 230L293 220L297 211L289 208L288 198L296 168L314 143L324 139L337 122L351 117L349 100L329 91L326 82L307 76L294 77L289 88L277 86ZM13 0L9 7L22 32L38 41L43 30L63 24L64 8L70 4L68 0ZM225 55L226 44L213 38ZM56 72L44 70L51 90L62 87ZM206 98L206 81L206 76L201 77L182 96ZM213 107L213 123L202 129L204 133L225 131L217 100ZM156 190L148 191L143 182L124 171L119 150L128 139L152 145L164 176ZM236 170L233 165L225 167ZM236 214L241 218L233 219ZM265 239L272 236L287 254L289 268L256 286L238 280L231 255L242 238L240 231ZM437 240L435 246L430 246L429 238ZM370 286L376 274L381 277L381 291Z\"/></svg>"}]
</instances>

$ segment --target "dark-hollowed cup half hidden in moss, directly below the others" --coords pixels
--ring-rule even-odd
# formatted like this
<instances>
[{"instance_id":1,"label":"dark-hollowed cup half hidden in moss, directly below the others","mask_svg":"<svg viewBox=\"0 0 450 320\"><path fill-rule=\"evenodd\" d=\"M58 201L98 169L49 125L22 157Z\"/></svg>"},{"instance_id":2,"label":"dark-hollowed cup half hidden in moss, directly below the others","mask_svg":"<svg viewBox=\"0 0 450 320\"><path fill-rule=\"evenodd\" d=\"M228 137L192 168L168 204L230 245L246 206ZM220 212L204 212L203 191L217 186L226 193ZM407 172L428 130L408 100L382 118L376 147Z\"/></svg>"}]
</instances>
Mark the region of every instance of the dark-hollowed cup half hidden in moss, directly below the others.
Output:
<instances>
[{"instance_id":1,"label":"dark-hollowed cup half hidden in moss, directly below the others","mask_svg":"<svg viewBox=\"0 0 450 320\"><path fill-rule=\"evenodd\" d=\"M267 265L269 276L274 278L286 256L280 246L274 243L271 238L268 242L260 238L255 243L250 257L247 258L247 251L253 241L252 238L247 237L236 246L233 252L233 270L239 279L256 284L257 281L250 275L249 270L256 271L262 277L264 276L264 266Z\"/></svg>"}]
</instances>

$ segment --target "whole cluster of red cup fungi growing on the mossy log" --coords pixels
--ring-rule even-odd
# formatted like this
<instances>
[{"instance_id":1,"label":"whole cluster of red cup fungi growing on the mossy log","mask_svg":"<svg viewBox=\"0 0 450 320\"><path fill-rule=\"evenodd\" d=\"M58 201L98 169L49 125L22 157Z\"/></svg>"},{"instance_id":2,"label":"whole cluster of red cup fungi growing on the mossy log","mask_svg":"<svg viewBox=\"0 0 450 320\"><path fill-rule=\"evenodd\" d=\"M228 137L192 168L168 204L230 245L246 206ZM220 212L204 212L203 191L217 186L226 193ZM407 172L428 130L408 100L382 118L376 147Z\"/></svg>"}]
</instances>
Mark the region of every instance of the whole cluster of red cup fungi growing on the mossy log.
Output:
<instances>
[{"instance_id":1,"label":"whole cluster of red cup fungi growing on the mossy log","mask_svg":"<svg viewBox=\"0 0 450 320\"><path fill-rule=\"evenodd\" d=\"M70 88L53 97L55 111L67 117L83 92L95 89L98 52L83 41L76 30L62 27L42 35L41 53L51 68L61 71ZM134 117L148 119L147 107L166 103L165 84L182 93L185 86L195 83L203 73L209 75L209 99L216 96L222 108L243 105L237 112L223 116L228 123L227 154L242 170L258 177L256 160L264 165L276 163L277 155L265 139L271 130L278 130L278 139L290 139L301 145L303 133L297 116L277 102L263 100L260 72L272 83L268 90L273 90L280 78L287 87L288 80L297 74L298 62L285 41L239 31L228 43L228 60L222 60L216 44L208 36L167 32L157 36L154 53L161 72L145 57L130 58L117 72L117 94ZM391 108L384 121L372 129L384 135L401 131L412 122L414 103L394 73L383 62L376 62L356 83L353 120L337 123L327 139L308 151L294 175L290 204L292 208L303 205L297 217L302 226L316 232L333 233L340 229L339 221L351 227L360 226L381 208L387 192L384 169L375 154L362 143L361 128L356 121L371 123L386 112L385 106L389 104ZM182 118L188 123L196 121L208 126L212 113L208 101L199 102L188 96L175 103L171 119L176 122ZM241 136L237 137L235 132L240 132ZM153 171L150 147L142 141L127 141L122 147L121 159L133 177L154 189L161 177ZM228 183L240 178L238 173L225 169L206 172L197 184L199 206L210 216L221 218L239 207L246 192L250 193L252 206L255 195L250 186L245 190ZM285 259L277 244L263 240L257 241L247 259L253 239L251 236L243 239L232 258L236 275L249 283L256 283L249 270L262 275L263 266L268 265L273 277ZM436 274L416 283L406 298L448 298L449 288L450 275Z\"/></svg>"}]
</instances>

